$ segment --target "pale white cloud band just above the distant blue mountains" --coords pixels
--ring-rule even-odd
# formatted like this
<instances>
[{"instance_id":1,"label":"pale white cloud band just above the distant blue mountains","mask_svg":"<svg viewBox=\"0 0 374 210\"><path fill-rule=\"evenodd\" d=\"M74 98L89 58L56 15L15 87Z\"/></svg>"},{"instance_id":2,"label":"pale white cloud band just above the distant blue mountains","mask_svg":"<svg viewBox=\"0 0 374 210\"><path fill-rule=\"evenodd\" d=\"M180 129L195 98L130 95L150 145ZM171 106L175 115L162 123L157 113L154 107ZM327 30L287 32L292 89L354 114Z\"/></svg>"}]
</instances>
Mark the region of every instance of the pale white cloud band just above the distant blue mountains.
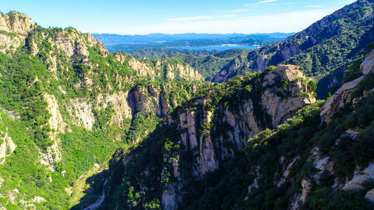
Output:
<instances>
[{"instance_id":1,"label":"pale white cloud band just above the distant blue mountains","mask_svg":"<svg viewBox=\"0 0 374 210\"><path fill-rule=\"evenodd\" d=\"M338 8L302 10L258 16L196 16L192 18L172 18L159 25L145 25L124 29L102 29L102 33L116 34L178 34L178 33L270 33L296 32L305 29ZM94 32L94 31L93 31Z\"/></svg>"}]
</instances>

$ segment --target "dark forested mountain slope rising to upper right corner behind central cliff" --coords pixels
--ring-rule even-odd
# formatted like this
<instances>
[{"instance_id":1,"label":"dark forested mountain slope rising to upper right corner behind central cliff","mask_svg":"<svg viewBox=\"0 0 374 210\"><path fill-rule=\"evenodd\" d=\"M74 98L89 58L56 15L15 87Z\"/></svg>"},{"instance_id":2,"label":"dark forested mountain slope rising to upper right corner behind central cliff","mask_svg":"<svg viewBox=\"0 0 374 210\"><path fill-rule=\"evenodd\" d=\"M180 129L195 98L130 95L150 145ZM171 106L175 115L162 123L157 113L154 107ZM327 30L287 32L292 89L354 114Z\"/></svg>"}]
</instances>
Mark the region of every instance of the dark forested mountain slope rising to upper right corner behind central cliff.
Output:
<instances>
[{"instance_id":1,"label":"dark forested mountain slope rising to upper right corner behind central cliff","mask_svg":"<svg viewBox=\"0 0 374 210\"><path fill-rule=\"evenodd\" d=\"M240 59L239 65L222 68L213 81L222 82L248 71L264 71L269 65L281 63L299 65L307 76L325 76L347 66L360 59L368 43L373 41L373 8L372 0L345 6L285 41L249 52ZM321 89L326 92L328 88Z\"/></svg>"}]
</instances>

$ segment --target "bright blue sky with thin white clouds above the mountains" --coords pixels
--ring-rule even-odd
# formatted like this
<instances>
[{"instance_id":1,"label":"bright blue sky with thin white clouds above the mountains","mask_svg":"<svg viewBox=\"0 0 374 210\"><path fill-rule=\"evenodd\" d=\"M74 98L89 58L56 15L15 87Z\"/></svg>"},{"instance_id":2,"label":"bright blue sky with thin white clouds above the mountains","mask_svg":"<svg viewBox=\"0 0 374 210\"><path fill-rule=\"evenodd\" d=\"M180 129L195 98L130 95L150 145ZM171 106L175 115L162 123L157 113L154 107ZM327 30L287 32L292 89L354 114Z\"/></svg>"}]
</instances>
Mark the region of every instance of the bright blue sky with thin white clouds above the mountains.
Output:
<instances>
[{"instance_id":1,"label":"bright blue sky with thin white clouds above the mountains","mask_svg":"<svg viewBox=\"0 0 374 210\"><path fill-rule=\"evenodd\" d=\"M89 33L269 33L305 29L353 0L5 0L43 27Z\"/></svg>"}]
</instances>

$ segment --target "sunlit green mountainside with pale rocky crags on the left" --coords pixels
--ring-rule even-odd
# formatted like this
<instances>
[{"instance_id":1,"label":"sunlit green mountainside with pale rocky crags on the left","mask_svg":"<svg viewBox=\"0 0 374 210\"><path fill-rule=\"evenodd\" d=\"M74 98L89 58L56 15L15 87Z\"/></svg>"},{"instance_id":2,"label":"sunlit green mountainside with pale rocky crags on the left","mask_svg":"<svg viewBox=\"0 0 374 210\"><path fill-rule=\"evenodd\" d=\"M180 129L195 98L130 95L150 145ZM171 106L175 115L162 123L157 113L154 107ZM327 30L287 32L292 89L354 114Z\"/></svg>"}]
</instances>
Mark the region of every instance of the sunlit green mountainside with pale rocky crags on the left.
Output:
<instances>
[{"instance_id":1,"label":"sunlit green mountainside with pale rocky crags on the left","mask_svg":"<svg viewBox=\"0 0 374 210\"><path fill-rule=\"evenodd\" d=\"M173 59L110 54L90 34L0 14L0 209L68 209L74 182L208 84Z\"/></svg>"}]
</instances>

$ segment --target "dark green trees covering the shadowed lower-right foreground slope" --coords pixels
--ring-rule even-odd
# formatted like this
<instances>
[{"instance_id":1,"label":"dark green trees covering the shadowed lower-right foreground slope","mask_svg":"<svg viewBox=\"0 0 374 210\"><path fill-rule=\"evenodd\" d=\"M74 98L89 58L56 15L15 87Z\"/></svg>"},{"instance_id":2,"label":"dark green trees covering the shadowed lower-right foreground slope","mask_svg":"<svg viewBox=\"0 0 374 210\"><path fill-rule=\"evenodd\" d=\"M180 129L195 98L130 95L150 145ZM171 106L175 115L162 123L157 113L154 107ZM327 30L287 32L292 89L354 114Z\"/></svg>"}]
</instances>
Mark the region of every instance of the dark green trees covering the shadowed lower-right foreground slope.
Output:
<instances>
[{"instance_id":1,"label":"dark green trees covering the shadowed lower-right foreground slope","mask_svg":"<svg viewBox=\"0 0 374 210\"><path fill-rule=\"evenodd\" d=\"M202 191L197 194L199 199L194 200L195 197L187 200L186 209L286 209L293 195L299 192L302 179L317 172L313 163L307 161L310 151L316 145L333 158L339 177L353 173L356 165L366 167L373 160L373 148L370 146L373 145L373 125L370 122L373 122L374 117L370 114L370 103L372 102L362 105L353 116L335 118L327 127L319 127L319 112L323 102L316 102L298 111L294 118L279 125L276 130L260 132L248 140L247 155L239 155L234 160L225 162L214 174L216 179L213 183L208 181L212 179L211 176L200 183ZM359 116L366 115L366 120L360 120L362 117ZM351 128L363 127L362 137L356 141L342 140L335 146L336 139L348 128L338 126L347 125L341 120L356 122L348 126ZM323 148L327 138L335 139L330 144L333 148ZM288 162L293 157L299 157L300 160L290 168L288 178L292 183L283 183L277 188L268 183L274 181L274 174L281 172L281 157ZM345 169L345 165L349 167ZM259 166L258 169L255 166ZM248 185L253 182L253 176L257 176L257 173L261 174L259 188L253 188L251 195L248 195ZM367 190L362 193L339 191L333 194L329 188L333 178L331 174L321 175L321 185L312 188L307 197L306 209L372 209L371 204L363 199L363 192Z\"/></svg>"}]
</instances>

